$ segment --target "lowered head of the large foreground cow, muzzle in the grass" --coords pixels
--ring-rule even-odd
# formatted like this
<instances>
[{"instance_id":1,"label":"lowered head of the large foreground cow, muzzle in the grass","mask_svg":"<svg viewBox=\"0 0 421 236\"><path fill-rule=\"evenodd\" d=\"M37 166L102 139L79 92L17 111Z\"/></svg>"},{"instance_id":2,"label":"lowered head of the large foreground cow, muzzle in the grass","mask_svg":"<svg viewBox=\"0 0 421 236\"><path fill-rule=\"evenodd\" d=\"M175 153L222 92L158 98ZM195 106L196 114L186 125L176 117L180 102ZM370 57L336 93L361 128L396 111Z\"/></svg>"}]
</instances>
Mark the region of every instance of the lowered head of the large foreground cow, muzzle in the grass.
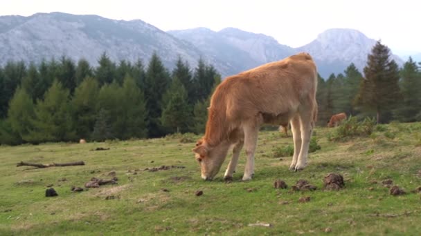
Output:
<instances>
[{"instance_id":1,"label":"lowered head of the large foreground cow, muzzle in the grass","mask_svg":"<svg viewBox=\"0 0 421 236\"><path fill-rule=\"evenodd\" d=\"M215 177L220 171L228 149L229 144L226 142L211 147L204 139L197 141L196 147L192 151L195 153L196 161L199 163L202 179L212 180Z\"/></svg>"}]
</instances>

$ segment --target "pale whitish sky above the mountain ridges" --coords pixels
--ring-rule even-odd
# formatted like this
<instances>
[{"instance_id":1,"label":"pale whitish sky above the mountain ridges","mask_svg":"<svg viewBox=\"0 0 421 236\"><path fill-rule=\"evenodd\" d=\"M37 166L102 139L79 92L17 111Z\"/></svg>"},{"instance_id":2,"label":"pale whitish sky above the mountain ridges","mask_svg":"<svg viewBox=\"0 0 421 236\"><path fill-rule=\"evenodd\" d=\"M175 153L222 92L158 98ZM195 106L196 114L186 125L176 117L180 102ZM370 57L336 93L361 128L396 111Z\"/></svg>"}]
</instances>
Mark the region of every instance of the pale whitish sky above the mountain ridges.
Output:
<instances>
[{"instance_id":1,"label":"pale whitish sky above the mountain ridges","mask_svg":"<svg viewBox=\"0 0 421 236\"><path fill-rule=\"evenodd\" d=\"M329 28L353 28L382 39L395 54L421 52L421 1L415 0L0 0L0 15L37 12L141 19L165 31L234 27L294 48Z\"/></svg>"}]
</instances>

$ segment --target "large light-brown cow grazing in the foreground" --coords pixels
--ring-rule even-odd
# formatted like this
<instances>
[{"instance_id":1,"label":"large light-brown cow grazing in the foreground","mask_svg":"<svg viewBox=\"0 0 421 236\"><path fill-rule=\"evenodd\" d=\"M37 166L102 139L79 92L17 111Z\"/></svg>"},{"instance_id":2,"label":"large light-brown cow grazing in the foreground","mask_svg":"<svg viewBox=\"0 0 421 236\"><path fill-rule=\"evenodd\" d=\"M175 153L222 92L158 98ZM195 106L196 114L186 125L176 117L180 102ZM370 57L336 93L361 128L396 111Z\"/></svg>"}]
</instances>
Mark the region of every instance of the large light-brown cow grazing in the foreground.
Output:
<instances>
[{"instance_id":1,"label":"large light-brown cow grazing in the foreground","mask_svg":"<svg viewBox=\"0 0 421 236\"><path fill-rule=\"evenodd\" d=\"M247 163L242 179L251 179L261 124L287 126L290 122L294 156L289 168L303 169L317 116L316 88L316 65L307 53L224 79L212 95L205 135L192 149L201 177L213 179L232 146L233 157L224 175L232 179L244 144Z\"/></svg>"}]
</instances>

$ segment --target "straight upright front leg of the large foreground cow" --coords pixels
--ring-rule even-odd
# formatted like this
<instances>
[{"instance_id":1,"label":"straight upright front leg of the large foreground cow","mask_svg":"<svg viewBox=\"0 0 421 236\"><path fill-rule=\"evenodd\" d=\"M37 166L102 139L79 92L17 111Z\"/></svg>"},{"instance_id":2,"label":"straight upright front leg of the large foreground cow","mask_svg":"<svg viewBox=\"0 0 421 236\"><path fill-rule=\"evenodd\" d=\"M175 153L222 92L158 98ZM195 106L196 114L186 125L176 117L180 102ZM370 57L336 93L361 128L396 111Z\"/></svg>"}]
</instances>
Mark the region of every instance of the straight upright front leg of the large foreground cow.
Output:
<instances>
[{"instance_id":1,"label":"straight upright front leg of the large foreground cow","mask_svg":"<svg viewBox=\"0 0 421 236\"><path fill-rule=\"evenodd\" d=\"M254 173L254 153L258 142L258 124L244 127L244 145L246 148L246 168L244 169L243 181L250 180Z\"/></svg>"}]
</instances>

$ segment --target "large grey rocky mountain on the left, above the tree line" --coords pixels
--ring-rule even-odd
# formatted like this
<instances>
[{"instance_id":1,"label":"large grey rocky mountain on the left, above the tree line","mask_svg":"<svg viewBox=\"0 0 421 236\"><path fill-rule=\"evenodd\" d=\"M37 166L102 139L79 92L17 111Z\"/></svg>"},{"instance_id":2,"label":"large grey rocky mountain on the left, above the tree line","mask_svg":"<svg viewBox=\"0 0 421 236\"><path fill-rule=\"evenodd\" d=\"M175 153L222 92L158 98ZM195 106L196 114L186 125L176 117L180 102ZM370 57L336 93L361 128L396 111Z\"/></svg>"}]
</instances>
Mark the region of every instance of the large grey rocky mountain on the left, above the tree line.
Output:
<instances>
[{"instance_id":1,"label":"large grey rocky mountain on the left, above the tree line","mask_svg":"<svg viewBox=\"0 0 421 236\"><path fill-rule=\"evenodd\" d=\"M96 65L103 52L113 61L147 62L154 51L168 68L179 55L190 65L197 64L202 55L191 43L141 20L116 21L61 12L0 17L0 65L8 60L36 63L62 55ZM218 66L217 61L206 59Z\"/></svg>"}]
</instances>

